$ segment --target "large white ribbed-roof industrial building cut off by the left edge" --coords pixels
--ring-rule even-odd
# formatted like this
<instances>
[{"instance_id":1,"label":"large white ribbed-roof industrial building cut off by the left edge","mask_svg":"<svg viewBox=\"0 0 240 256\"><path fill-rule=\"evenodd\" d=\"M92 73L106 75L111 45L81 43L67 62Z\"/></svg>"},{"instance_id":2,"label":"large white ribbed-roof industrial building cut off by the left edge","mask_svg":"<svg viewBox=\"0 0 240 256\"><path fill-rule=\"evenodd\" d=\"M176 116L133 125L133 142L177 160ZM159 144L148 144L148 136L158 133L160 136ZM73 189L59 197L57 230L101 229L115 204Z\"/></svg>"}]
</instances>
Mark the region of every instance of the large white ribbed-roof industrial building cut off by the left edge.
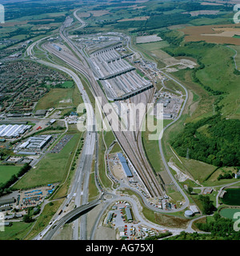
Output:
<instances>
[{"instance_id":1,"label":"large white ribbed-roof industrial building cut off by the left edge","mask_svg":"<svg viewBox=\"0 0 240 256\"><path fill-rule=\"evenodd\" d=\"M2 125L0 126L0 136L5 138L16 138L29 130L31 126L25 125Z\"/></svg>"}]
</instances>

